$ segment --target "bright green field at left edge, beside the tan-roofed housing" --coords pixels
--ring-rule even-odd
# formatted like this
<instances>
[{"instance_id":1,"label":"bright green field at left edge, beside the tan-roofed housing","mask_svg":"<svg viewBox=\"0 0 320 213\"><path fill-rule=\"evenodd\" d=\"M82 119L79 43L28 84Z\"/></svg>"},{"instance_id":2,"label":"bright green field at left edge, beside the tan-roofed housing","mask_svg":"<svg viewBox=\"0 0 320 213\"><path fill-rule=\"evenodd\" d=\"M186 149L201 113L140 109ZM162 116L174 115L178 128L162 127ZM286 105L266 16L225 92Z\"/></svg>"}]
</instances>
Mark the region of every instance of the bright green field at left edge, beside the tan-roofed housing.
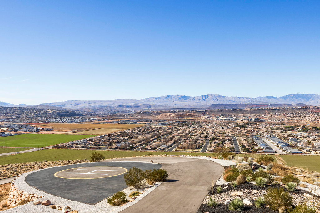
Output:
<instances>
[{"instance_id":1,"label":"bright green field at left edge, beside the tan-roofed housing","mask_svg":"<svg viewBox=\"0 0 320 213\"><path fill-rule=\"evenodd\" d=\"M0 138L0 147L45 147L90 138L96 135L21 134Z\"/></svg>"}]
</instances>

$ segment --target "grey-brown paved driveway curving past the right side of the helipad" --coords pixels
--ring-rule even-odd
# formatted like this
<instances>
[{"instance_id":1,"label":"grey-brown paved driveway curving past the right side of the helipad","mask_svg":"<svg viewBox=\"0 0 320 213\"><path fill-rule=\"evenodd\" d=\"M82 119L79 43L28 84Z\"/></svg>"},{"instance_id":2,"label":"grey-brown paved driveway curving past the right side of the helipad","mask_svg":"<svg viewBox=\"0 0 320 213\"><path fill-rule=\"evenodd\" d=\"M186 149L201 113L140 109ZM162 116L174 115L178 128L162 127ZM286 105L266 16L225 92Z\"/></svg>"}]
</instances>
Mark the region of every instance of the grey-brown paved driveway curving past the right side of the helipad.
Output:
<instances>
[{"instance_id":1,"label":"grey-brown paved driveway curving past the right side of the helipad","mask_svg":"<svg viewBox=\"0 0 320 213\"><path fill-rule=\"evenodd\" d=\"M153 160L162 164L169 173L169 181L121 213L195 213L212 187L212 181L216 182L224 171L212 161L192 158L155 156L130 160Z\"/></svg>"}]
</instances>

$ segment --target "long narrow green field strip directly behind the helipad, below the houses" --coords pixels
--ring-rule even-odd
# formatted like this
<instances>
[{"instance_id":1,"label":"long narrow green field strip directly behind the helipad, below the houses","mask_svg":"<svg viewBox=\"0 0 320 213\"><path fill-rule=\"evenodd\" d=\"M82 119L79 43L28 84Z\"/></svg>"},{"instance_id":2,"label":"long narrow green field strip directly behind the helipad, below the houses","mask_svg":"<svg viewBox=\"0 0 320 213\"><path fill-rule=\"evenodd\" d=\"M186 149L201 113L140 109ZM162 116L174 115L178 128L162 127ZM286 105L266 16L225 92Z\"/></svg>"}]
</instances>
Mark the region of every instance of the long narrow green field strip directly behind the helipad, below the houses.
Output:
<instances>
[{"instance_id":1,"label":"long narrow green field strip directly behind the helipad, below the houses","mask_svg":"<svg viewBox=\"0 0 320 213\"><path fill-rule=\"evenodd\" d=\"M100 152L105 156L105 159L114 157L132 157L148 155L202 155L211 156L207 153L173 153L173 152L139 152L139 151L96 151L96 150L73 150L73 149L43 149L34 152L21 153L10 156L0 156L0 164L19 164L35 161L55 161L55 160L76 160L76 159L90 159L92 152Z\"/></svg>"}]
</instances>

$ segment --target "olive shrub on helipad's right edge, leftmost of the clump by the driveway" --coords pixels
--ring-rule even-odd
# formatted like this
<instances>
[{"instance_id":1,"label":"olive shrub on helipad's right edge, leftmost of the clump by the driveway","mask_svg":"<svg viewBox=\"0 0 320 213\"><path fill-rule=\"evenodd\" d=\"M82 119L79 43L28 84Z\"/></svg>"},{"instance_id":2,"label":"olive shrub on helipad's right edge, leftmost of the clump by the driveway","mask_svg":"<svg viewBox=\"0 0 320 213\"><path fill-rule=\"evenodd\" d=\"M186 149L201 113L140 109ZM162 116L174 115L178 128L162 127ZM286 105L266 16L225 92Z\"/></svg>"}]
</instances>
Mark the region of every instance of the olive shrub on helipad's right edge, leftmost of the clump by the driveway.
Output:
<instances>
[{"instance_id":1,"label":"olive shrub on helipad's right edge, leftmost of the clump by the driveway","mask_svg":"<svg viewBox=\"0 0 320 213\"><path fill-rule=\"evenodd\" d=\"M141 189L144 186L146 186L145 178L145 171L136 167L129 169L129 171L124 174L125 184L127 186L133 186L138 189Z\"/></svg>"}]
</instances>

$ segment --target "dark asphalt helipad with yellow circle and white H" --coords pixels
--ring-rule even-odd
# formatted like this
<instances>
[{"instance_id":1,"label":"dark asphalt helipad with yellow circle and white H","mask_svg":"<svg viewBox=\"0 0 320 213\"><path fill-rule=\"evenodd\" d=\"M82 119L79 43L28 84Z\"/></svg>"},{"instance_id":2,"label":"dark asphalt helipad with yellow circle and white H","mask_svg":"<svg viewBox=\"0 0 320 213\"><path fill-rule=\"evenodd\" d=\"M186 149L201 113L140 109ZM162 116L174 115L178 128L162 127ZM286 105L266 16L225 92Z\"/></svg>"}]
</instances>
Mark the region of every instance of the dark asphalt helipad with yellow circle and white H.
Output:
<instances>
[{"instance_id":1,"label":"dark asphalt helipad with yellow circle and white H","mask_svg":"<svg viewBox=\"0 0 320 213\"><path fill-rule=\"evenodd\" d=\"M161 165L136 162L75 164L33 172L25 181L48 194L95 204L127 188L124 173L132 167L146 170L159 169Z\"/></svg>"}]
</instances>

